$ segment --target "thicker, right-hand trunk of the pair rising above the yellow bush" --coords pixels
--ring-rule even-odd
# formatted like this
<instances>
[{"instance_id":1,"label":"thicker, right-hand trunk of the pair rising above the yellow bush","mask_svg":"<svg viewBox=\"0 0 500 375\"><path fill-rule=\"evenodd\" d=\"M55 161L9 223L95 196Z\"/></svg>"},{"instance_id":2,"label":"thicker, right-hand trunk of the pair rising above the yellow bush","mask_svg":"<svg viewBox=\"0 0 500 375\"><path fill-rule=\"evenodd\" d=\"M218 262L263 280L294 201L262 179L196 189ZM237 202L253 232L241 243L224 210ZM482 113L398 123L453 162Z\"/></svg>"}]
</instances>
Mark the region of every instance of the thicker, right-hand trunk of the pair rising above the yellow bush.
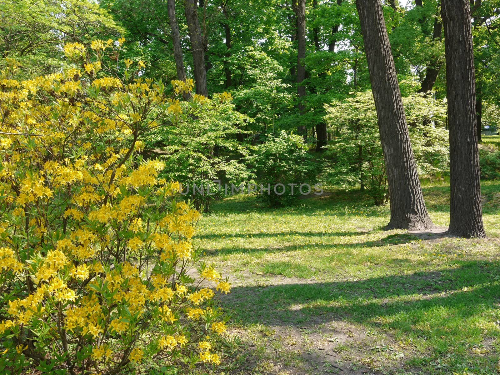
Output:
<instances>
[{"instance_id":1,"label":"thicker, right-hand trunk of the pair rising above the yellow bush","mask_svg":"<svg viewBox=\"0 0 500 375\"><path fill-rule=\"evenodd\" d=\"M208 89L206 87L205 49L203 37L201 36L201 29L199 27L196 4L196 0L185 0L184 10L187 29L189 31L189 39L191 40L195 90L199 95L208 96Z\"/></svg>"}]
</instances>

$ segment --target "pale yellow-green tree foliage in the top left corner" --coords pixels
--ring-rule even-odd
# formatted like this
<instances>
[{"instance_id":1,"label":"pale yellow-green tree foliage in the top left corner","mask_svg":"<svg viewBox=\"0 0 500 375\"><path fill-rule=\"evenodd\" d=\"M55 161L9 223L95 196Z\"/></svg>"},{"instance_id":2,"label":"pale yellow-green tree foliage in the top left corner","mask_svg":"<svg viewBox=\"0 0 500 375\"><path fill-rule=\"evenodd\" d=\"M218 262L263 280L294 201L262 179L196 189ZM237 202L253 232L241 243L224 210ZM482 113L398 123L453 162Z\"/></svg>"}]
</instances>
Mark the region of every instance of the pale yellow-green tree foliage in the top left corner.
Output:
<instances>
[{"instance_id":1,"label":"pale yellow-green tree foliage in the top left corner","mask_svg":"<svg viewBox=\"0 0 500 375\"><path fill-rule=\"evenodd\" d=\"M88 0L5 0L0 14L0 55L20 62L25 76L60 70L64 43L117 39L124 32L107 11Z\"/></svg>"}]
</instances>

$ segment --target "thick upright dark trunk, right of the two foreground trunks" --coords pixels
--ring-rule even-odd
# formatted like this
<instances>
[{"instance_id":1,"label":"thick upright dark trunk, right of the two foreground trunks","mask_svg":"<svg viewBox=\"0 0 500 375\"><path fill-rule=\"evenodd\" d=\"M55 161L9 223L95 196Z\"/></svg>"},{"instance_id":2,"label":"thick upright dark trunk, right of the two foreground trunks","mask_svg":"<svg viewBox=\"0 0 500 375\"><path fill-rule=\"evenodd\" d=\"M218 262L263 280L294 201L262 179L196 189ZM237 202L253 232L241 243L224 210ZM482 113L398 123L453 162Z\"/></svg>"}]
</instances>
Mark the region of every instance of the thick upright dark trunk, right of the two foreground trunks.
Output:
<instances>
[{"instance_id":1,"label":"thick upright dark trunk, right of the two foreground trunks","mask_svg":"<svg viewBox=\"0 0 500 375\"><path fill-rule=\"evenodd\" d=\"M481 212L475 75L469 0L443 0L449 116L448 233L485 237Z\"/></svg>"}]
</instances>

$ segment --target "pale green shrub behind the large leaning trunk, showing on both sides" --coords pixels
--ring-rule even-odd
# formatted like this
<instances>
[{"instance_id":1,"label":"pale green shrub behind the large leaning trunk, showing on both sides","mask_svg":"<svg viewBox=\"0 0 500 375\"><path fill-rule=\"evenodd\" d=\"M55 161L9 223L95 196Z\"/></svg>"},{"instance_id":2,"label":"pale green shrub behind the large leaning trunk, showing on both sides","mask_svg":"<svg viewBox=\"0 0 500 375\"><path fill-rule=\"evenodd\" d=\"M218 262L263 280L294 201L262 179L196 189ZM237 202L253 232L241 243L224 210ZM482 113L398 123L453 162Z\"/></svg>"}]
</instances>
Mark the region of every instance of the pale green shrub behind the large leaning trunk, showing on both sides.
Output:
<instances>
[{"instance_id":1,"label":"pale green shrub behind the large leaning trunk, showing on both sides","mask_svg":"<svg viewBox=\"0 0 500 375\"><path fill-rule=\"evenodd\" d=\"M418 173L429 176L449 168L448 135L442 127L445 106L429 96L403 98ZM323 178L341 187L359 185L375 204L388 200L387 177L373 95L359 92L325 105L324 120L334 134L323 156Z\"/></svg>"}]
</instances>

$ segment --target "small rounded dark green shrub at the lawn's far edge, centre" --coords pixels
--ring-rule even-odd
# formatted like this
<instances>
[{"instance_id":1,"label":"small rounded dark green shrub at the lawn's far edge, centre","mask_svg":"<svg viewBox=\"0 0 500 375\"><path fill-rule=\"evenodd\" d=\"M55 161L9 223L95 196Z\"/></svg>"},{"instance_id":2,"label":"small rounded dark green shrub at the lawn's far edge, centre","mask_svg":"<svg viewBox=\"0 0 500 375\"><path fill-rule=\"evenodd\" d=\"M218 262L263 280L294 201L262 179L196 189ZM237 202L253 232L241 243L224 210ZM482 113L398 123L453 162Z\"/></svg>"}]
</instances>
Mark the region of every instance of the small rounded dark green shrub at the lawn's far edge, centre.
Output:
<instances>
[{"instance_id":1,"label":"small rounded dark green shrub at the lawn's far edge, centre","mask_svg":"<svg viewBox=\"0 0 500 375\"><path fill-rule=\"evenodd\" d=\"M258 184L262 184L263 188L270 186L269 191L263 191L259 196L271 206L294 201L299 195L300 185L310 184L316 175L316 167L302 136L285 131L276 137L268 135L263 143L255 146L247 161L257 176Z\"/></svg>"}]
</instances>

